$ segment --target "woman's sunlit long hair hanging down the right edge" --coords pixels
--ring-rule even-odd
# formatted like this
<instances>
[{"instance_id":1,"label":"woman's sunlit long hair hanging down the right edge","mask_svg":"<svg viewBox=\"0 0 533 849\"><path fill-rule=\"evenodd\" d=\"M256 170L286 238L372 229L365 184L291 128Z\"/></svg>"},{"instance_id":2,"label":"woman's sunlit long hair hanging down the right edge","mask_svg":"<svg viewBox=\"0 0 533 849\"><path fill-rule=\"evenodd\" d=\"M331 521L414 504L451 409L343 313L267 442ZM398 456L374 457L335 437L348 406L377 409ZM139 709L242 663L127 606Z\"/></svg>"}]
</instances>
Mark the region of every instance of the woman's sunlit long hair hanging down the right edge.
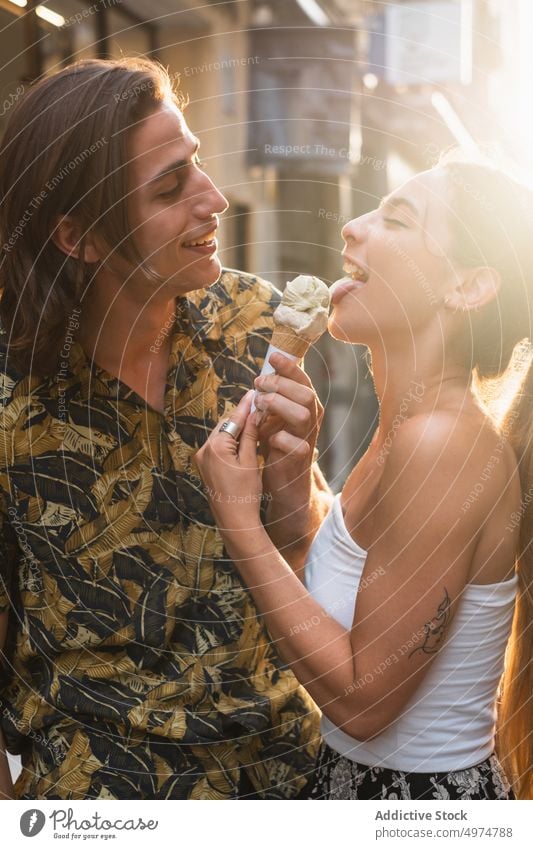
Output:
<instances>
[{"instance_id":1,"label":"woman's sunlit long hair hanging down the right edge","mask_svg":"<svg viewBox=\"0 0 533 849\"><path fill-rule=\"evenodd\" d=\"M439 168L444 169L451 188L453 260L465 267L488 266L501 278L497 297L473 315L462 342L481 400L507 401L506 410L500 404L500 426L514 448L520 474L522 506L509 517L513 528L520 525L518 595L501 686L497 740L515 794L531 799L533 364L531 345L524 340L532 339L533 199L527 188L494 167L452 158Z\"/></svg>"}]
</instances>

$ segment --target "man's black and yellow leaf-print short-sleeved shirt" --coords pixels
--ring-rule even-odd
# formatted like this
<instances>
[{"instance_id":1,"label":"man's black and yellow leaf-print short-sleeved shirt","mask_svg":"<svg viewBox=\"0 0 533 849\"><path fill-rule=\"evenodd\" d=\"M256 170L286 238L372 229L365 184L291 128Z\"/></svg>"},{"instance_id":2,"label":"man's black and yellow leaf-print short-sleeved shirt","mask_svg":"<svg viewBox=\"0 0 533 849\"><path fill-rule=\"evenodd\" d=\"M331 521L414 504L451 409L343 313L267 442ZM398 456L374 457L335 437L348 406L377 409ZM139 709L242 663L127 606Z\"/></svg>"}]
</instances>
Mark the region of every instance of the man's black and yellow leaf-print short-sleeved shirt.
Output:
<instances>
[{"instance_id":1,"label":"man's black and yellow leaf-print short-sleeved shirt","mask_svg":"<svg viewBox=\"0 0 533 849\"><path fill-rule=\"evenodd\" d=\"M164 415L74 335L51 378L0 337L1 721L21 798L291 798L314 705L224 553L192 458L258 374L278 301L176 300Z\"/></svg>"}]
</instances>

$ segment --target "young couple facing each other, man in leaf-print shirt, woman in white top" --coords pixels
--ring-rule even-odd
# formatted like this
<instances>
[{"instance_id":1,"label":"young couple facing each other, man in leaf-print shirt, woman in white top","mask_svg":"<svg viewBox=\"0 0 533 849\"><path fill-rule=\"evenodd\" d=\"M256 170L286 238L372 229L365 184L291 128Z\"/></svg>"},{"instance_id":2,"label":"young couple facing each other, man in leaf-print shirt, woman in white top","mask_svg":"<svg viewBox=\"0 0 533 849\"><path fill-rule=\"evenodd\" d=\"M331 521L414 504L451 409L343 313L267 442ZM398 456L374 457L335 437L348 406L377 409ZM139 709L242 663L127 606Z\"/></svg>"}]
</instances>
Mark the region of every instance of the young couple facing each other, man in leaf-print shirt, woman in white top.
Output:
<instances>
[{"instance_id":1,"label":"young couple facing each other, man in leaf-print shirt, woman in white top","mask_svg":"<svg viewBox=\"0 0 533 849\"><path fill-rule=\"evenodd\" d=\"M530 335L529 197L449 163L344 227L329 329L380 423L332 499L182 108L159 66L88 61L3 140L3 797L510 798L518 589L498 743L528 798L531 371L500 428L472 387Z\"/></svg>"}]
</instances>

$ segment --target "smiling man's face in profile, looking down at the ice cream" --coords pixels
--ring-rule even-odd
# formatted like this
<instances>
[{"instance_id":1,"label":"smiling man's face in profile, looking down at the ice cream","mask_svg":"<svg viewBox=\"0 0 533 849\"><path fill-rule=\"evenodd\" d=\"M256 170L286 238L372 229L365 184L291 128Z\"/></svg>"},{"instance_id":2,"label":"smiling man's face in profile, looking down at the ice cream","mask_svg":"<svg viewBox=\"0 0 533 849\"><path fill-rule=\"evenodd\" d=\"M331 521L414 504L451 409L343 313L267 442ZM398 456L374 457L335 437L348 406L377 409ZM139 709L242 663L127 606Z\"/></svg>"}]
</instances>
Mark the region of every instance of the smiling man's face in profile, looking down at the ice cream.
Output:
<instances>
[{"instance_id":1,"label":"smiling man's face in profile, looking down at the ice cream","mask_svg":"<svg viewBox=\"0 0 533 849\"><path fill-rule=\"evenodd\" d=\"M221 271L215 236L228 203L200 167L197 150L171 102L139 124L128 146L133 236L171 297L212 285Z\"/></svg>"}]
</instances>

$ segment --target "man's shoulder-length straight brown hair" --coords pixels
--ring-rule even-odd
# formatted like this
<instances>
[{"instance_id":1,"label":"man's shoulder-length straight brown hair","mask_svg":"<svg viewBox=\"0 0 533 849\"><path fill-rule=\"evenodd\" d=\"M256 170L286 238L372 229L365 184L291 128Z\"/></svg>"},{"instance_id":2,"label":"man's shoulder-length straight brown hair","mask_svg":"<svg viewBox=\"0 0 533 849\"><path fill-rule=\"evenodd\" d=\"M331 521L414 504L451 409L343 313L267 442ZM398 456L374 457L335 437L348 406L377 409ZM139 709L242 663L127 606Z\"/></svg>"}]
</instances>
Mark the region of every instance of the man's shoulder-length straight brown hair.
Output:
<instances>
[{"instance_id":1,"label":"man's shoulder-length straight brown hair","mask_svg":"<svg viewBox=\"0 0 533 849\"><path fill-rule=\"evenodd\" d=\"M14 108L0 148L0 319L20 370L56 368L68 316L95 270L84 259L89 231L143 263L128 222L126 146L165 100L185 106L157 63L91 59L40 80ZM79 259L51 238L67 214L84 234Z\"/></svg>"}]
</instances>

